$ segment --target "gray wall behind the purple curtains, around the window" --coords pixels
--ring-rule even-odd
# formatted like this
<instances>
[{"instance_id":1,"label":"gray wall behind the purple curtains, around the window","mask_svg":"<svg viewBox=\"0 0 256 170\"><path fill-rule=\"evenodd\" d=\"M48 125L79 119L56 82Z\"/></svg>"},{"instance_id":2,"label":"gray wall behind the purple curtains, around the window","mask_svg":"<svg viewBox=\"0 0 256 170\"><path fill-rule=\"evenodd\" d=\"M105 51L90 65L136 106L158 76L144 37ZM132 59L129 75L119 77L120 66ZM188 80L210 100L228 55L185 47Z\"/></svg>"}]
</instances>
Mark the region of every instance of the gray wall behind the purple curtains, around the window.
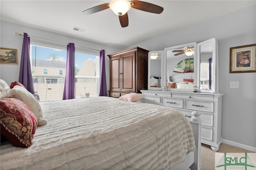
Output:
<instances>
[{"instance_id":1,"label":"gray wall behind the purple curtains, around the window","mask_svg":"<svg viewBox=\"0 0 256 170\"><path fill-rule=\"evenodd\" d=\"M118 48L114 47L109 47L106 45L102 45L99 43L93 43L93 42L88 42L85 40L81 40L78 38L73 38L69 36L63 36L60 34L56 34L53 32L48 32L48 31L43 31L27 26L22 26L18 24L13 24L10 22L5 22L5 21L0 21L0 45L3 48L12 48L12 49L17 49L18 52L18 65L12 65L12 64L1 64L0 65L0 78L6 81L10 85L13 81L18 81L19 79L19 72L20 72L20 57L21 57L21 52L22 52L22 42L23 42L23 36L16 36L15 32L18 32L20 34L28 33L28 35L32 37L37 37L37 38L43 38L46 40L52 40L56 42L62 42L62 43L75 43L75 46L80 46L80 47L87 47L91 49L105 49L105 62L106 62L106 81L107 81L107 88L109 89L109 58L108 54L115 53L120 51ZM61 43L53 43L53 42L48 42L48 41L42 41L38 40L35 38L30 38L30 42L37 42L37 43L44 43L44 44L51 44L54 46L61 46L64 49L67 48L67 45L61 44ZM84 48L79 48L76 47L76 50L85 50L89 51L91 53L96 53L100 55L99 51L95 50L89 50L89 49L84 49Z\"/></svg>"}]
</instances>

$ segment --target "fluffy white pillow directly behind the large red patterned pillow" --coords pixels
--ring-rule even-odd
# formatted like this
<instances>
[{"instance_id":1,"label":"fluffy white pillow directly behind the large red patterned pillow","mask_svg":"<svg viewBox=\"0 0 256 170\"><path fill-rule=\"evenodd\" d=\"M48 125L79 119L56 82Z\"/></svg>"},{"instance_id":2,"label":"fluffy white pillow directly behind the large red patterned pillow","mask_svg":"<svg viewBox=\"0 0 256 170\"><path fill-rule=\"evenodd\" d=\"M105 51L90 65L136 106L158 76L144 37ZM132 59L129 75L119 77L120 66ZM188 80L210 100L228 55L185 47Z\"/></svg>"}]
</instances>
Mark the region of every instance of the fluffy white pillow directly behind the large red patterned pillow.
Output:
<instances>
[{"instance_id":1,"label":"fluffy white pillow directly behind the large red patterned pillow","mask_svg":"<svg viewBox=\"0 0 256 170\"><path fill-rule=\"evenodd\" d=\"M19 99L28 105L28 107L30 107L32 112L36 115L38 126L44 126L47 124L47 121L44 119L40 103L36 100L32 93L27 91L27 89L19 85L15 85L12 89L10 89L8 97Z\"/></svg>"}]
</instances>

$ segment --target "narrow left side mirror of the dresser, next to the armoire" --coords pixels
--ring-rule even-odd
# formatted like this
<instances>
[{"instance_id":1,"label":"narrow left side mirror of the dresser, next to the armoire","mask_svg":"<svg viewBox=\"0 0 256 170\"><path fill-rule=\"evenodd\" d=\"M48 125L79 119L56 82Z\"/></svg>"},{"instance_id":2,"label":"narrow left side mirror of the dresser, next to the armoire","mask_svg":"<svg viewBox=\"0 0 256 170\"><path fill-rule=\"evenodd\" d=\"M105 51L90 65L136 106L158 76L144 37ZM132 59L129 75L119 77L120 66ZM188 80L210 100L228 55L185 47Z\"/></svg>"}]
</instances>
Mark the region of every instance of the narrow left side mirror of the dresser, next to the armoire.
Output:
<instances>
[{"instance_id":1,"label":"narrow left side mirror of the dresser, next to the armoire","mask_svg":"<svg viewBox=\"0 0 256 170\"><path fill-rule=\"evenodd\" d=\"M150 51L148 53L148 89L162 90L162 74L161 67L164 57L164 51Z\"/></svg>"}]
</instances>

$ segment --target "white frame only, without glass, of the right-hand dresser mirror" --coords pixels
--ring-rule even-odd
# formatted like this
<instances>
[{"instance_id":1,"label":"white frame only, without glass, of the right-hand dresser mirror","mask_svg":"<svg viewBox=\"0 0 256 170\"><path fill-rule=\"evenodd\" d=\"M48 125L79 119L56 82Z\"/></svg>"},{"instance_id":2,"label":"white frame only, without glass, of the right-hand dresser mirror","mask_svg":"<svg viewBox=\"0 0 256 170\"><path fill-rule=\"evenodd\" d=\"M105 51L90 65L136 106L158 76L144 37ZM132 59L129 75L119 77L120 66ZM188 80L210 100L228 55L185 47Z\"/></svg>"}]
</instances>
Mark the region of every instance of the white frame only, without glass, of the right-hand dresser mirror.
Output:
<instances>
[{"instance_id":1,"label":"white frame only, without glass, of the right-hand dresser mirror","mask_svg":"<svg viewBox=\"0 0 256 170\"><path fill-rule=\"evenodd\" d=\"M200 60L201 60L201 47L202 45L205 45L207 43L212 43L212 89L200 89ZM198 77L198 92L206 92L206 93L218 93L219 92L219 69L218 69L218 41L216 38L212 38L210 40L206 40L204 42L198 43L197 47L197 53L198 53L198 60L197 60L197 76Z\"/></svg>"}]
</instances>

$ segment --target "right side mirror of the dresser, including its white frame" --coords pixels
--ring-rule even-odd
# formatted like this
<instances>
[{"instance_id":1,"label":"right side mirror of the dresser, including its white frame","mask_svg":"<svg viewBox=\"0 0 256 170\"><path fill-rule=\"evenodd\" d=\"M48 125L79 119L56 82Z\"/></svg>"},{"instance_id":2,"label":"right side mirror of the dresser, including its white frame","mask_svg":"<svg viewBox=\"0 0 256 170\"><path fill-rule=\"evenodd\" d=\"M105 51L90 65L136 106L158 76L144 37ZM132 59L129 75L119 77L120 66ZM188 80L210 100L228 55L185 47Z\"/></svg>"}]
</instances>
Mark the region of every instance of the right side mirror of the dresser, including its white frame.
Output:
<instances>
[{"instance_id":1,"label":"right side mirror of the dresser, including its white frame","mask_svg":"<svg viewBox=\"0 0 256 170\"><path fill-rule=\"evenodd\" d=\"M198 43L198 91L218 92L218 42L215 38Z\"/></svg>"}]
</instances>

